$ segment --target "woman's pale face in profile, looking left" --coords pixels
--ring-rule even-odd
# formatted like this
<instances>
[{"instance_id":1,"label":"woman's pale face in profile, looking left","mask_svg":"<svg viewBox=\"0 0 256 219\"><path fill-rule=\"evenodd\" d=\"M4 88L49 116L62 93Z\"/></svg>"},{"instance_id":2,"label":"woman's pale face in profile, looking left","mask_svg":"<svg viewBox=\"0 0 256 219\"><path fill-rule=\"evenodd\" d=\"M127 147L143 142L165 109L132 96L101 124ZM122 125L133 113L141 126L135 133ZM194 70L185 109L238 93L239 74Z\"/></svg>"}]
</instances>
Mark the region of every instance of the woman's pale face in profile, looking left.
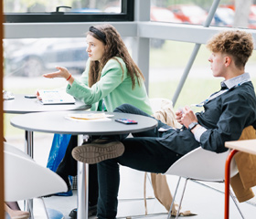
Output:
<instances>
[{"instance_id":1,"label":"woman's pale face in profile, looking left","mask_svg":"<svg viewBox=\"0 0 256 219\"><path fill-rule=\"evenodd\" d=\"M86 42L88 44L86 51L88 52L91 61L101 61L105 45L99 39L91 35L86 36Z\"/></svg>"}]
</instances>

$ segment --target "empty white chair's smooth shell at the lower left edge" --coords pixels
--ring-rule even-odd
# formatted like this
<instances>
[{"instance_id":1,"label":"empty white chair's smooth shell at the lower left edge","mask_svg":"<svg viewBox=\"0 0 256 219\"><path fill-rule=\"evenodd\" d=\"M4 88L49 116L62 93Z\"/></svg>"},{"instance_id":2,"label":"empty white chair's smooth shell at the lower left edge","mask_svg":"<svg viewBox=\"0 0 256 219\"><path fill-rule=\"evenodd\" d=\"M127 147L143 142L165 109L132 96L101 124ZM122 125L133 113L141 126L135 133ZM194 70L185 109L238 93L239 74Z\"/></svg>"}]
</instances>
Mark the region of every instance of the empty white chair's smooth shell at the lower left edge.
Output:
<instances>
[{"instance_id":1,"label":"empty white chair's smooth shell at the lower left edge","mask_svg":"<svg viewBox=\"0 0 256 219\"><path fill-rule=\"evenodd\" d=\"M5 202L32 199L67 191L55 172L43 167L23 151L5 143Z\"/></svg>"}]
</instances>

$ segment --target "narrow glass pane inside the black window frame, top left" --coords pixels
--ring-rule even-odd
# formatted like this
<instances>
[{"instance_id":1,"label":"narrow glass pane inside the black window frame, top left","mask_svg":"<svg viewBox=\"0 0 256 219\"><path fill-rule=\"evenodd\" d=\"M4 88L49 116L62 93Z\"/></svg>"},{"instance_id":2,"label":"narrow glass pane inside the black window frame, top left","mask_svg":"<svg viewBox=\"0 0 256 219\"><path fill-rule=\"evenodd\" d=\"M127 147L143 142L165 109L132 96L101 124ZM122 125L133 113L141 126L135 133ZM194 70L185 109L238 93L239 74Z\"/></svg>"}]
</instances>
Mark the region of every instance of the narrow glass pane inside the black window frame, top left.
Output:
<instances>
[{"instance_id":1,"label":"narrow glass pane inside the black window frame, top left","mask_svg":"<svg viewBox=\"0 0 256 219\"><path fill-rule=\"evenodd\" d=\"M67 7L62 7L63 5ZM61 6L61 7L59 7ZM121 12L121 0L4 0L4 13L102 13Z\"/></svg>"}]
</instances>

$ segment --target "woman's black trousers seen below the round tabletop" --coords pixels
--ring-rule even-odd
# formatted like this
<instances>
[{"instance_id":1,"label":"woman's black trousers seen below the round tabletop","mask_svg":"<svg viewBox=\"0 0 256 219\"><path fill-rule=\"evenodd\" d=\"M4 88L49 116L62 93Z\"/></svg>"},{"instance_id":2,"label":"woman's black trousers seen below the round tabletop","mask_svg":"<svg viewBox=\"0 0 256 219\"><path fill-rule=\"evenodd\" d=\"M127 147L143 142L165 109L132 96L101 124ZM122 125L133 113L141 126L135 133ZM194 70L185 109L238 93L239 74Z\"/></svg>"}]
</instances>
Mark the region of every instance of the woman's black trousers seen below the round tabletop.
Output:
<instances>
[{"instance_id":1,"label":"woman's black trousers seen below the round tabletop","mask_svg":"<svg viewBox=\"0 0 256 219\"><path fill-rule=\"evenodd\" d=\"M69 141L69 145L63 160L59 163L59 167L56 172L63 176L76 176L78 170L78 163L73 159L71 151L78 146L78 136L72 135ZM99 186L98 186L98 173L97 165L89 165L89 203L91 206L95 205L98 201Z\"/></svg>"}]
</instances>

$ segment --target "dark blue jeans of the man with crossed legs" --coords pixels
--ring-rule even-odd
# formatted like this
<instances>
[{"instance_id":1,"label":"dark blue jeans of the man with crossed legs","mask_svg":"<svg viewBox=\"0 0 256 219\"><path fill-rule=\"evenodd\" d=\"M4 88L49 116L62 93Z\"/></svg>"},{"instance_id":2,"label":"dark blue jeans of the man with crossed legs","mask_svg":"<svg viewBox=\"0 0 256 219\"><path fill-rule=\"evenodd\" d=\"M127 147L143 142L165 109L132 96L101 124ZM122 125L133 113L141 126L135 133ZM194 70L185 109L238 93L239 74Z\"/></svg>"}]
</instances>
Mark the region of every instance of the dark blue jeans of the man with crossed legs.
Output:
<instances>
[{"instance_id":1,"label":"dark blue jeans of the man with crossed legs","mask_svg":"<svg viewBox=\"0 0 256 219\"><path fill-rule=\"evenodd\" d=\"M129 104L123 104L114 111L150 117L144 111ZM119 164L138 171L164 173L181 157L175 151L167 149L156 141L165 135L165 132L158 131L160 127L168 128L167 125L158 120L157 128L135 133L133 138L126 138L126 135L111 137L111 139L122 141L125 150L121 157L97 164L99 180L97 216L99 219L116 218L120 183Z\"/></svg>"}]
</instances>

